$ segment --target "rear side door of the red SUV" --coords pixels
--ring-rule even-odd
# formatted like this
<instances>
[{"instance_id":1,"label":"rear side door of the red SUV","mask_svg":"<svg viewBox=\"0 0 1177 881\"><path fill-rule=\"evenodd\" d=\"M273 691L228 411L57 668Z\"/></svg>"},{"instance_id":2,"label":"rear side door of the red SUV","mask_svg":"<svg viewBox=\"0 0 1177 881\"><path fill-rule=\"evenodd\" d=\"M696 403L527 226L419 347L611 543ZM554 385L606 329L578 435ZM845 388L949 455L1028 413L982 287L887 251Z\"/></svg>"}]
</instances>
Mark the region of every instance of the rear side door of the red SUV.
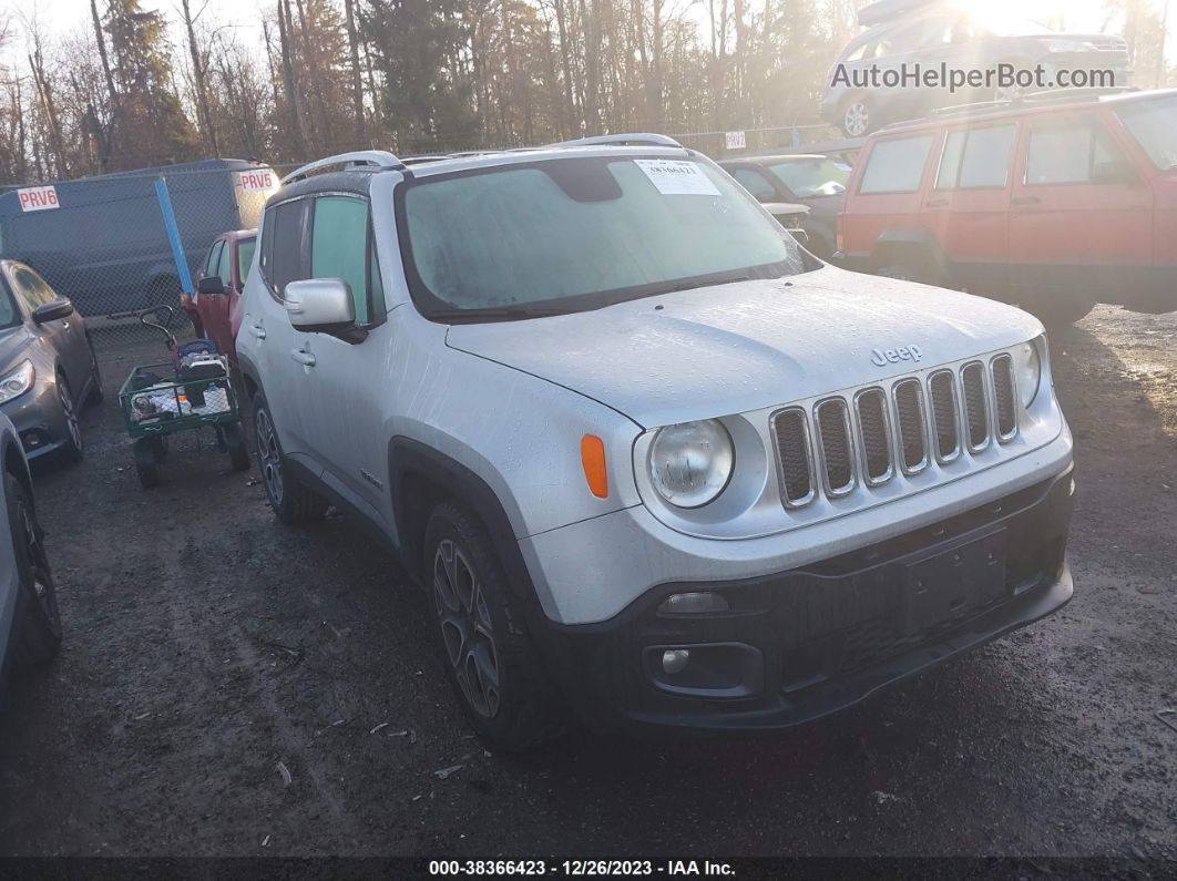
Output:
<instances>
[{"instance_id":1,"label":"rear side door of the red SUV","mask_svg":"<svg viewBox=\"0 0 1177 881\"><path fill-rule=\"evenodd\" d=\"M945 132L939 165L923 203L923 221L949 266L947 282L999 295L1009 283L1010 169L1017 121Z\"/></svg>"}]
</instances>

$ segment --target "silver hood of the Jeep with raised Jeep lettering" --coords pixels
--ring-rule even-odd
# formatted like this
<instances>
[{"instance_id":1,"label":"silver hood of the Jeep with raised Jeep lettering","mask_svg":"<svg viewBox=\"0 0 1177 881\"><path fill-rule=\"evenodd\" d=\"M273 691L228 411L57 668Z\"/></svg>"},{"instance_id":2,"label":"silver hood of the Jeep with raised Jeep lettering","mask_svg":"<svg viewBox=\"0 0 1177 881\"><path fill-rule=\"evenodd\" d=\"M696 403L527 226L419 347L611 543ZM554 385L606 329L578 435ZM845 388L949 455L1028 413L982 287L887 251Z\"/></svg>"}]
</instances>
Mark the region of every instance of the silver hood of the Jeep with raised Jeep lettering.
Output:
<instances>
[{"instance_id":1,"label":"silver hood of the Jeep with raised Jeep lettering","mask_svg":"<svg viewBox=\"0 0 1177 881\"><path fill-rule=\"evenodd\" d=\"M645 428L746 413L1016 346L1019 309L832 267L592 312L455 325L447 343L573 389ZM916 346L920 358L872 361Z\"/></svg>"}]
</instances>

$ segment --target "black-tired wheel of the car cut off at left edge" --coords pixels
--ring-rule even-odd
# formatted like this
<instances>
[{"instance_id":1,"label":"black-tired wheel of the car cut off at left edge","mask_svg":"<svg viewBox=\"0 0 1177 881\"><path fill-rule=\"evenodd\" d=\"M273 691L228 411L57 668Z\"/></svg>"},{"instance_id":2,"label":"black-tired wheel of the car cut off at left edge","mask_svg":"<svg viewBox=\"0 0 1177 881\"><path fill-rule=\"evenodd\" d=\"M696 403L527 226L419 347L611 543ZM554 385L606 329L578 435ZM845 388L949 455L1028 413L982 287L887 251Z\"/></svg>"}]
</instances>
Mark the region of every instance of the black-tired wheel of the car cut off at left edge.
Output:
<instances>
[{"instance_id":1,"label":"black-tired wheel of the car cut off at left edge","mask_svg":"<svg viewBox=\"0 0 1177 881\"><path fill-rule=\"evenodd\" d=\"M31 667L56 656L61 613L33 500L11 474L4 475L4 489L19 576L13 660L18 667Z\"/></svg>"}]
</instances>

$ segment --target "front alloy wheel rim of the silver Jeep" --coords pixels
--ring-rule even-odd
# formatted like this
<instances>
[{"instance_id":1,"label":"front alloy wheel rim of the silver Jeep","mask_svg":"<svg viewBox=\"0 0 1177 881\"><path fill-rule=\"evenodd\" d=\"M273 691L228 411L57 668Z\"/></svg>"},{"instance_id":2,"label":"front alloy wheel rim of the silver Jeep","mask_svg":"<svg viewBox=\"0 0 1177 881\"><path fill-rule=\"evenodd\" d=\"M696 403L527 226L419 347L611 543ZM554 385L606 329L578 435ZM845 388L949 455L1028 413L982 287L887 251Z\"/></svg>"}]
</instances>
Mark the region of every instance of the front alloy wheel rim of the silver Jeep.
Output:
<instances>
[{"instance_id":1,"label":"front alloy wheel rim of the silver Jeep","mask_svg":"<svg viewBox=\"0 0 1177 881\"><path fill-rule=\"evenodd\" d=\"M470 559L445 539L433 558L433 600L446 656L471 708L485 719L499 712L499 655L483 583Z\"/></svg>"}]
</instances>

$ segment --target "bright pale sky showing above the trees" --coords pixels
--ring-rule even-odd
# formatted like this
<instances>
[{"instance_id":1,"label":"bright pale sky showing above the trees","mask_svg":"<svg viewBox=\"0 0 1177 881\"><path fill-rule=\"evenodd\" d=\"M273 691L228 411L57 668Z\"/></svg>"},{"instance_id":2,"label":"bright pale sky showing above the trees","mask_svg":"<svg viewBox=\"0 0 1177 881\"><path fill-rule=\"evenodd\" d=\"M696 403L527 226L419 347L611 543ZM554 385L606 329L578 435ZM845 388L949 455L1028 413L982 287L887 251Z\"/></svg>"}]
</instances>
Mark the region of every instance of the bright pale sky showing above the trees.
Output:
<instances>
[{"instance_id":1,"label":"bright pale sky showing above the trees","mask_svg":"<svg viewBox=\"0 0 1177 881\"><path fill-rule=\"evenodd\" d=\"M1161 11L1166 0L1144 0L1156 11ZM1168 56L1177 61L1177 0L1170 4L1168 28ZM1065 26L1070 31L1098 32L1106 18L1103 0L959 0L972 5L984 15L1013 19L1050 18L1062 13ZM22 27L20 16L35 15L46 34L49 36L75 32L87 27L89 22L89 0L4 0L4 7L15 12L18 19L13 27L16 32L12 44L5 51L8 60L24 58ZM185 35L179 25L180 0L141 0L145 9L157 9L167 15L172 22L172 40L178 49L182 49ZM261 44L261 11L270 12L273 0L191 0L193 13L204 9L202 16L238 29L240 40L245 44ZM700 25L706 20L705 0L696 0L696 9ZM201 19L205 20L205 19ZM705 25L703 25L705 27Z\"/></svg>"}]
</instances>

